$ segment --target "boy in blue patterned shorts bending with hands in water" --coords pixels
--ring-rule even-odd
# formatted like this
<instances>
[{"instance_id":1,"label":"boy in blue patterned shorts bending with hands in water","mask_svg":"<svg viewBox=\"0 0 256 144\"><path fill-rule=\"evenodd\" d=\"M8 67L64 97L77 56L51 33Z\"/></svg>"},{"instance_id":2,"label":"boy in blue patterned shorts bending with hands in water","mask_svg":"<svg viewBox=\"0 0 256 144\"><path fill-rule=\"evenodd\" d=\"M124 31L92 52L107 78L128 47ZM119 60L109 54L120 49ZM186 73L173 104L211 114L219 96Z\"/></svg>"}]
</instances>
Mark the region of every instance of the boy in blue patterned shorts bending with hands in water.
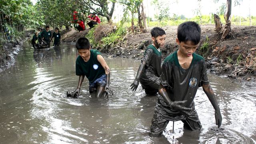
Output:
<instances>
[{"instance_id":1,"label":"boy in blue patterned shorts bending with hands in water","mask_svg":"<svg viewBox=\"0 0 256 144\"><path fill-rule=\"evenodd\" d=\"M98 50L91 50L87 38L79 38L76 42L76 49L79 54L76 58L76 75L79 76L79 81L72 97L79 95L84 76L89 80L89 92L96 92L97 98L104 96L106 90L113 95L109 86L110 70L101 53Z\"/></svg>"}]
</instances>

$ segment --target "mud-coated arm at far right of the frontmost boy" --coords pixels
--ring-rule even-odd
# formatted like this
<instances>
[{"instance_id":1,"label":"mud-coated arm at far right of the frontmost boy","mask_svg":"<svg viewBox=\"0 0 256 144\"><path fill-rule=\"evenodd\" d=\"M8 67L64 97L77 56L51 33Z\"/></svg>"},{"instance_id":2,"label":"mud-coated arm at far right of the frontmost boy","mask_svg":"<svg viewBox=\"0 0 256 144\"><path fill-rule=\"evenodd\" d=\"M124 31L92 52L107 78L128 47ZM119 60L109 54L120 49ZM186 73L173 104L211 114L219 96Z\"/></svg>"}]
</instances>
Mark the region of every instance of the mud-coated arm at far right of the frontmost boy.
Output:
<instances>
[{"instance_id":1,"label":"mud-coated arm at far right of the frontmost boy","mask_svg":"<svg viewBox=\"0 0 256 144\"><path fill-rule=\"evenodd\" d=\"M218 103L215 99L214 92L212 90L212 87L210 84L202 84L203 90L207 97L209 98L214 110L215 110L215 120L216 120L216 125L218 125L218 128L220 127L222 123L222 116L220 114L220 108L218 106Z\"/></svg>"}]
</instances>

